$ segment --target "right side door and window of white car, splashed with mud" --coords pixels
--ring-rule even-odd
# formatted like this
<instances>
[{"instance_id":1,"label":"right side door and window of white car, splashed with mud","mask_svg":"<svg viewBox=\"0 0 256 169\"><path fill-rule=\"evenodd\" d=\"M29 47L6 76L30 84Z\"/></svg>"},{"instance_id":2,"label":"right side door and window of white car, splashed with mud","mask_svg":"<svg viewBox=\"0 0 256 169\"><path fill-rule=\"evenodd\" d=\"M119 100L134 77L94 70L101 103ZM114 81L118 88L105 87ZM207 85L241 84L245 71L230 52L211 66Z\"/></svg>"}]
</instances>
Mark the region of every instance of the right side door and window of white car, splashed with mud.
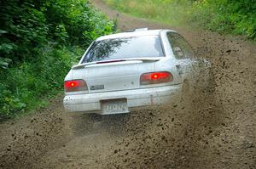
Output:
<instances>
[{"instance_id":1,"label":"right side door and window of white car, splashed with mud","mask_svg":"<svg viewBox=\"0 0 256 169\"><path fill-rule=\"evenodd\" d=\"M176 58L176 67L182 80L188 79L193 72L194 52L189 42L176 32L167 32L167 38L172 47L172 53Z\"/></svg>"}]
</instances>

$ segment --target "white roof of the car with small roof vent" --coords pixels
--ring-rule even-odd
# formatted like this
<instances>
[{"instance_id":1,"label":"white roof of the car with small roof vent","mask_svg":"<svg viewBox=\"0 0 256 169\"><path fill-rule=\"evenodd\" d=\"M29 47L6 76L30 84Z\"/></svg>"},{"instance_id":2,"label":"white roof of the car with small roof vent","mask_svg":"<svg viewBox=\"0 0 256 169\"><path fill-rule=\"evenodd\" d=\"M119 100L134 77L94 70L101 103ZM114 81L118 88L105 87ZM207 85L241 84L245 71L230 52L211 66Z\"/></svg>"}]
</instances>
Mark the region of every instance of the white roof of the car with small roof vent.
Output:
<instances>
[{"instance_id":1,"label":"white roof of the car with small roof vent","mask_svg":"<svg viewBox=\"0 0 256 169\"><path fill-rule=\"evenodd\" d=\"M142 28L142 29L137 29L135 31L127 31L127 32L115 33L107 36L98 37L96 41L102 41L106 39L114 39L114 38L120 38L120 37L159 35L160 31L172 31L172 30L146 30Z\"/></svg>"}]
</instances>

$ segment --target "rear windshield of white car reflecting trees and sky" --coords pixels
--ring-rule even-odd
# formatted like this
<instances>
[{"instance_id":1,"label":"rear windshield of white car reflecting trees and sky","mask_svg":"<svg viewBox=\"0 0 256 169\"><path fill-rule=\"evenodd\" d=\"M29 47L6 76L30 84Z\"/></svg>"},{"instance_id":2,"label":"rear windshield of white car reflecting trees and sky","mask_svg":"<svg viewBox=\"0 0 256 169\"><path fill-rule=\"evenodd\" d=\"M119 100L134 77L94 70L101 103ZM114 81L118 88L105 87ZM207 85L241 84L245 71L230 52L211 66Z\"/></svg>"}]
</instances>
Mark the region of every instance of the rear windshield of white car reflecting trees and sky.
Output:
<instances>
[{"instance_id":1,"label":"rear windshield of white car reflecting trees and sky","mask_svg":"<svg viewBox=\"0 0 256 169\"><path fill-rule=\"evenodd\" d=\"M125 37L96 41L82 63L164 56L159 36Z\"/></svg>"}]
</instances>

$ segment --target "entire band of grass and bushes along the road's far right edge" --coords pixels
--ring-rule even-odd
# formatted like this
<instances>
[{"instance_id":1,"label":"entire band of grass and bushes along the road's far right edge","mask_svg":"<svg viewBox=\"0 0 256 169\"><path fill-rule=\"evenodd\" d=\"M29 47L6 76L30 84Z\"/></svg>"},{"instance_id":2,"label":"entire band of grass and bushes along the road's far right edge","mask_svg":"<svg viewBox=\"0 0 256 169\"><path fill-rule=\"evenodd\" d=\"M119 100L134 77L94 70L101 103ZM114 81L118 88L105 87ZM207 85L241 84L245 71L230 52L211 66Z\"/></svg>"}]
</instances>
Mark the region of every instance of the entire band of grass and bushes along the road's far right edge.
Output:
<instances>
[{"instance_id":1,"label":"entire band of grass and bushes along the road's far right edge","mask_svg":"<svg viewBox=\"0 0 256 169\"><path fill-rule=\"evenodd\" d=\"M256 0L105 0L111 7L169 25L202 27L256 40Z\"/></svg>"}]
</instances>

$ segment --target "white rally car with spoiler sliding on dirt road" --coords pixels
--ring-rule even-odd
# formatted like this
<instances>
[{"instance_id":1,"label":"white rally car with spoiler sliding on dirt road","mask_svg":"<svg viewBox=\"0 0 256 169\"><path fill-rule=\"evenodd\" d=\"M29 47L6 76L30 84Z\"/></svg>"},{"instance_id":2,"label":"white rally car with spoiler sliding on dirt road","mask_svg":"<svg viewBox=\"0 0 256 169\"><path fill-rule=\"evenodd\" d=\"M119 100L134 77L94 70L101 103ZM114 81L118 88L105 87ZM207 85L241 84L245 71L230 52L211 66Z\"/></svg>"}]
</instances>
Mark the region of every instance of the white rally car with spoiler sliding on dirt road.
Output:
<instances>
[{"instance_id":1,"label":"white rally car with spoiler sliding on dirt road","mask_svg":"<svg viewBox=\"0 0 256 169\"><path fill-rule=\"evenodd\" d=\"M92 42L65 78L68 111L101 115L165 104L181 92L198 63L176 31L137 29Z\"/></svg>"}]
</instances>

